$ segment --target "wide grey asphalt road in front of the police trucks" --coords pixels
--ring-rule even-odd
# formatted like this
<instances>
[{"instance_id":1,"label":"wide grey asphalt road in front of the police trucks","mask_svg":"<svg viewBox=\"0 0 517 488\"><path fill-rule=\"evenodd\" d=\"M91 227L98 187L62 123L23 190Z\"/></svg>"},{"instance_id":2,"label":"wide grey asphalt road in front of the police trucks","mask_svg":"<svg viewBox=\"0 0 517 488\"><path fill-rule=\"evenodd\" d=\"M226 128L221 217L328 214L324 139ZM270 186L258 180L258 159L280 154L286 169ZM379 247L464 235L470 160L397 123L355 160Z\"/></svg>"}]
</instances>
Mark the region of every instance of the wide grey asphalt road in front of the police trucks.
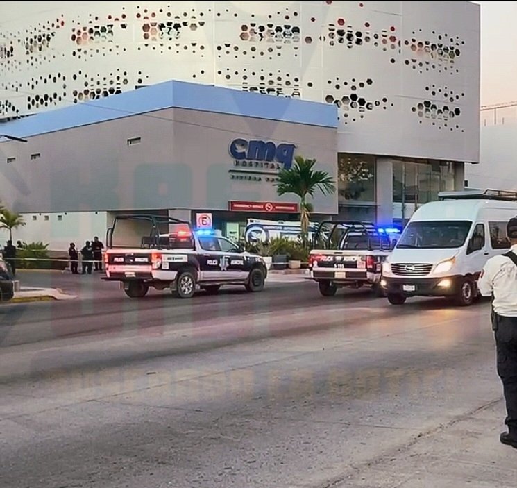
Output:
<instances>
[{"instance_id":1,"label":"wide grey asphalt road in front of the police trucks","mask_svg":"<svg viewBox=\"0 0 517 488\"><path fill-rule=\"evenodd\" d=\"M514 487L487 303L312 283L0 307L0 487Z\"/></svg>"}]
</instances>

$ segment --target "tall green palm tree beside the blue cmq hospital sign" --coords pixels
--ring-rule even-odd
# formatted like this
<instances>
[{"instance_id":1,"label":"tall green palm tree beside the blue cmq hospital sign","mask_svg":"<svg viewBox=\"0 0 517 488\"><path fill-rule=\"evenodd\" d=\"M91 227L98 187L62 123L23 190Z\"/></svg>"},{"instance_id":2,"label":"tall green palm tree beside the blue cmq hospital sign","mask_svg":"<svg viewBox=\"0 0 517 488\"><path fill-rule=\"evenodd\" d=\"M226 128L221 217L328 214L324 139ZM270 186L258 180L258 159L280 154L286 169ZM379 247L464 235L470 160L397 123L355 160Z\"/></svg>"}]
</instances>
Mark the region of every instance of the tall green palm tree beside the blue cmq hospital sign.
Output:
<instances>
[{"instance_id":1,"label":"tall green palm tree beside the blue cmq hospital sign","mask_svg":"<svg viewBox=\"0 0 517 488\"><path fill-rule=\"evenodd\" d=\"M278 171L276 191L279 196L292 193L300 197L300 227L302 239L307 240L310 214L314 210L307 197L314 197L316 190L324 195L333 194L336 191L332 176L326 171L315 171L315 159L305 159L302 156L294 158L294 165L289 169Z\"/></svg>"}]
</instances>

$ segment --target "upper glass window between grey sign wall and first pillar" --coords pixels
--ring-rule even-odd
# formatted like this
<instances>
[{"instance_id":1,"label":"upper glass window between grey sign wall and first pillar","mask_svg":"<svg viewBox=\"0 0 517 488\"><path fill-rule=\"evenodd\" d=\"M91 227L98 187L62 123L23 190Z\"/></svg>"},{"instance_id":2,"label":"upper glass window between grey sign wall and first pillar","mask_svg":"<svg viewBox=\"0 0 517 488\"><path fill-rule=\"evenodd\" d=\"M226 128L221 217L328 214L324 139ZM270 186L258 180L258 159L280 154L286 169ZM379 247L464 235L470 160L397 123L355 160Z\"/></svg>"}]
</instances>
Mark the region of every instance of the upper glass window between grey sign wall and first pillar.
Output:
<instances>
[{"instance_id":1,"label":"upper glass window between grey sign wall and first pillar","mask_svg":"<svg viewBox=\"0 0 517 488\"><path fill-rule=\"evenodd\" d=\"M339 202L375 201L375 156L339 153Z\"/></svg>"}]
</instances>

